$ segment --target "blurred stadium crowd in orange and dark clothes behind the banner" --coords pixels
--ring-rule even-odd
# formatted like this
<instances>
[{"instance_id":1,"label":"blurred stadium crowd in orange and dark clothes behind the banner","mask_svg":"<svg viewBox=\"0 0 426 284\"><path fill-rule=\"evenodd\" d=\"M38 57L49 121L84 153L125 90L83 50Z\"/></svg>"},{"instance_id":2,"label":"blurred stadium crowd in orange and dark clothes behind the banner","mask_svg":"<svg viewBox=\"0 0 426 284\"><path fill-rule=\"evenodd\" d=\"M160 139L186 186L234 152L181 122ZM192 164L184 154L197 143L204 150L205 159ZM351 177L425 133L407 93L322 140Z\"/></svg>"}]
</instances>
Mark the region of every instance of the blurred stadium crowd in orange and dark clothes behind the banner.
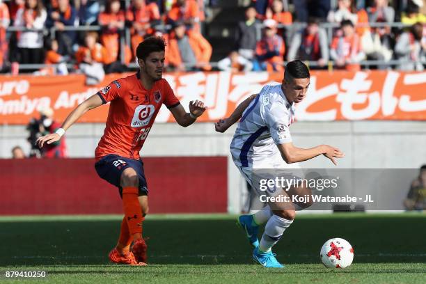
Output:
<instances>
[{"instance_id":1,"label":"blurred stadium crowd in orange and dark clothes behind the banner","mask_svg":"<svg viewBox=\"0 0 426 284\"><path fill-rule=\"evenodd\" d=\"M366 59L400 60L399 70L424 68L423 0L246 2L235 48L212 64L212 45L202 31L207 8L218 0L0 0L1 72L17 74L19 65L44 63L38 73L84 72L95 84L102 79L97 74L127 70L138 43L152 35L166 38L169 70L281 71L283 61L295 58L310 61L311 68L333 62L359 70ZM334 24L331 34L324 23ZM126 32L128 40L120 40Z\"/></svg>"}]
</instances>

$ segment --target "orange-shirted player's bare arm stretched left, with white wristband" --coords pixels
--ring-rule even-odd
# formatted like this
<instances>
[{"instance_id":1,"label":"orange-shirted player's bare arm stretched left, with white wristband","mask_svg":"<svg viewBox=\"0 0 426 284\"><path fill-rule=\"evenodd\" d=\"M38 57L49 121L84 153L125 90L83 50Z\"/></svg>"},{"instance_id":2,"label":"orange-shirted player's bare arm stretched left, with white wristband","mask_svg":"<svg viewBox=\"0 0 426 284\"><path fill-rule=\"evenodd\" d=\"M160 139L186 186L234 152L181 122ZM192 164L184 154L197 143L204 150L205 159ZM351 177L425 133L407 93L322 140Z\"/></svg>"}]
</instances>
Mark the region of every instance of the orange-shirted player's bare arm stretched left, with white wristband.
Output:
<instances>
[{"instance_id":1,"label":"orange-shirted player's bare arm stretched left, with white wristband","mask_svg":"<svg viewBox=\"0 0 426 284\"><path fill-rule=\"evenodd\" d=\"M45 143L51 144L56 141L59 141L65 131L70 128L70 126L75 123L81 116L86 113L86 111L89 111L90 109L95 109L95 107L99 107L102 105L102 99L99 95L92 95L87 100L79 104L71 113L68 115L68 117L63 122L63 125L61 126L61 129L58 129L55 133L47 134L45 136L41 136L39 139L37 139L36 143L37 145L42 148Z\"/></svg>"}]
</instances>

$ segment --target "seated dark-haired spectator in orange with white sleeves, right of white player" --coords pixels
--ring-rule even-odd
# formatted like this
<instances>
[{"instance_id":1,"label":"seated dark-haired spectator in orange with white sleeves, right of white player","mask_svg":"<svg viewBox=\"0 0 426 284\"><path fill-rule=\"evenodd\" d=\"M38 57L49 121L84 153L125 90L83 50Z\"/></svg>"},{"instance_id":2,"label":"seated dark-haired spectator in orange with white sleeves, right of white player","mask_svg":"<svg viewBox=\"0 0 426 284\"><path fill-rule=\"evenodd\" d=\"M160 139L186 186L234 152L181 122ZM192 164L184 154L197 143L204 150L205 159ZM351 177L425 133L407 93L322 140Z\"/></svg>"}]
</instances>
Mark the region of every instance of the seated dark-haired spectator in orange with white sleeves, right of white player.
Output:
<instances>
[{"instance_id":1,"label":"seated dark-haired spectator in orange with white sleeves, right of white player","mask_svg":"<svg viewBox=\"0 0 426 284\"><path fill-rule=\"evenodd\" d=\"M343 20L340 27L342 36L333 38L330 57L336 62L338 68L358 71L361 69L359 63L365 58L361 49L361 38L349 19Z\"/></svg>"}]
</instances>

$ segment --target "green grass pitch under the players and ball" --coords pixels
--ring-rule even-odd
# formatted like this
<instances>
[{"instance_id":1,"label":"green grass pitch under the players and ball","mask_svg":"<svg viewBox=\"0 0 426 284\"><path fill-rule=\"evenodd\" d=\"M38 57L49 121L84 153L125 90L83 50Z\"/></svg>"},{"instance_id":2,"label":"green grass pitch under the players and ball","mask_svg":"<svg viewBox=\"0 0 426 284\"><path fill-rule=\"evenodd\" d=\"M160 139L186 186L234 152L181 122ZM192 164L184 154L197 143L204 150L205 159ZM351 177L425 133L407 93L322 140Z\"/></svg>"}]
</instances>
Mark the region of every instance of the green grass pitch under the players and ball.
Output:
<instances>
[{"instance_id":1,"label":"green grass pitch under the players and ball","mask_svg":"<svg viewBox=\"0 0 426 284\"><path fill-rule=\"evenodd\" d=\"M120 216L0 217L0 283L426 283L426 214L303 214L274 247L285 269L254 265L230 215L152 215L148 267L109 264ZM331 237L354 246L347 269L326 269ZM6 271L46 271L42 280ZM34 282L36 281L36 282Z\"/></svg>"}]
</instances>

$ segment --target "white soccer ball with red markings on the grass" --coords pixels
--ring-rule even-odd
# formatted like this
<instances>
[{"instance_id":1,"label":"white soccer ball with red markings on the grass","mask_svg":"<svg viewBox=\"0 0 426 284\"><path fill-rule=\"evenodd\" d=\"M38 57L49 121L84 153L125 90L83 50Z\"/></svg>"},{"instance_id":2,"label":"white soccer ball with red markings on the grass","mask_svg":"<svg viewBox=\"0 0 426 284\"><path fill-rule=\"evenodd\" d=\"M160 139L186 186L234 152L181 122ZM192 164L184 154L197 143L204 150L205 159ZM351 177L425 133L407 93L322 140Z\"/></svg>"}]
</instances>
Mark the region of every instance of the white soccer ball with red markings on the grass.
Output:
<instances>
[{"instance_id":1,"label":"white soccer ball with red markings on the grass","mask_svg":"<svg viewBox=\"0 0 426 284\"><path fill-rule=\"evenodd\" d=\"M345 239L329 239L319 253L322 264L328 268L346 268L354 260L354 248Z\"/></svg>"}]
</instances>

